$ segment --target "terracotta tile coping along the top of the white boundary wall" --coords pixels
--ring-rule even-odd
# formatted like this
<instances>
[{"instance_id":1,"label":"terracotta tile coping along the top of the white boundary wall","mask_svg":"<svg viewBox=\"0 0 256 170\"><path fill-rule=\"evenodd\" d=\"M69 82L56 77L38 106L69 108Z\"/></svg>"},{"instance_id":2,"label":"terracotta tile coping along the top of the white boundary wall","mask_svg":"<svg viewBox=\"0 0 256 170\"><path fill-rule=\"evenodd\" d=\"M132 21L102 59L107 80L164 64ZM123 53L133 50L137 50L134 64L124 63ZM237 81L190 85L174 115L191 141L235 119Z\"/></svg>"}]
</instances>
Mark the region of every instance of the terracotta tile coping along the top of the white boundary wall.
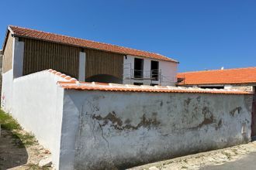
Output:
<instances>
[{"instance_id":1,"label":"terracotta tile coping along the top of the white boundary wall","mask_svg":"<svg viewBox=\"0 0 256 170\"><path fill-rule=\"evenodd\" d=\"M59 81L59 86L66 90L102 90L102 91L123 91L123 92L146 92L146 93L222 93L222 94L251 94L250 92L239 90L209 90L187 87L161 87L161 86L135 86L116 83L88 83L79 82L70 76L63 75L55 70L48 70L57 76L65 77L67 81Z\"/></svg>"}]
</instances>

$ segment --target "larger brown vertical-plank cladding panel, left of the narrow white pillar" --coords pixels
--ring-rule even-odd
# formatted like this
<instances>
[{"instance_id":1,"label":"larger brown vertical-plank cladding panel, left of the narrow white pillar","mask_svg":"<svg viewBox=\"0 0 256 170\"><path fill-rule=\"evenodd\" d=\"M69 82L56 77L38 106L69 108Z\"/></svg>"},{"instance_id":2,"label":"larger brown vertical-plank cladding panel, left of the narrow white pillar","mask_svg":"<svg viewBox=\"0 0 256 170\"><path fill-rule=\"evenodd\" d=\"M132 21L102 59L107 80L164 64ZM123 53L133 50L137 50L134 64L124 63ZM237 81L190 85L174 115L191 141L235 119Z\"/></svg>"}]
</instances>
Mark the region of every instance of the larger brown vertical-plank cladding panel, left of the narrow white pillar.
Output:
<instances>
[{"instance_id":1,"label":"larger brown vertical-plank cladding panel, left of the narrow white pillar","mask_svg":"<svg viewBox=\"0 0 256 170\"><path fill-rule=\"evenodd\" d=\"M80 48L36 39L24 41L23 75L53 69L78 78Z\"/></svg>"}]
</instances>

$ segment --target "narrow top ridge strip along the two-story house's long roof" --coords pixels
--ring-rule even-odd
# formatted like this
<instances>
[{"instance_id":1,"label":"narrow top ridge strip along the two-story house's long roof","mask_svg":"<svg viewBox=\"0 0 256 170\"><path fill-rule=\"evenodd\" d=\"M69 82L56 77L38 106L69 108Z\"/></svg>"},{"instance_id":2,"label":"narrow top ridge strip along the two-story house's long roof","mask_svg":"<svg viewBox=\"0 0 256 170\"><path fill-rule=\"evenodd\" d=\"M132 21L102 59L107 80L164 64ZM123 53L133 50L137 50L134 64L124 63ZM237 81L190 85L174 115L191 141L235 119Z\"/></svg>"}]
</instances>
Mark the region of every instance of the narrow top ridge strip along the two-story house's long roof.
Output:
<instances>
[{"instance_id":1,"label":"narrow top ridge strip along the two-story house's long roof","mask_svg":"<svg viewBox=\"0 0 256 170\"><path fill-rule=\"evenodd\" d=\"M22 27L22 26L12 26L12 25L9 25L9 27L10 27L11 29L12 29L12 27L16 27L16 28L19 28L19 29L29 29L29 28L25 28L25 27ZM123 49L132 49L132 50L135 50L135 51L137 51L137 52L155 54L155 55L158 55L158 56L165 57L165 58L167 58L167 59L171 59L171 58L169 58L169 57L167 57L167 56L164 56L164 55L162 55L162 54L154 53L154 52L150 52L150 51L146 51L146 50L142 50L142 49L133 49L133 48L130 48L130 47L114 45L114 44L107 43L107 42L99 42L99 41L90 40L90 39L81 39L81 38L74 37L74 36L66 36L66 35L62 35L62 34L58 34L58 33L54 33L54 32L40 31L40 30L37 30L37 29L29 29L29 30L31 30L31 31L36 31L36 32L43 32L43 33L47 33L47 34L53 34L53 35L55 35L55 36L64 36L64 37L67 37L67 38L79 39L79 40L82 40L82 41L95 42L95 43L99 43L99 44L102 44L102 45L116 46L116 47L123 48ZM177 62L175 59L171 59L171 60Z\"/></svg>"}]
</instances>

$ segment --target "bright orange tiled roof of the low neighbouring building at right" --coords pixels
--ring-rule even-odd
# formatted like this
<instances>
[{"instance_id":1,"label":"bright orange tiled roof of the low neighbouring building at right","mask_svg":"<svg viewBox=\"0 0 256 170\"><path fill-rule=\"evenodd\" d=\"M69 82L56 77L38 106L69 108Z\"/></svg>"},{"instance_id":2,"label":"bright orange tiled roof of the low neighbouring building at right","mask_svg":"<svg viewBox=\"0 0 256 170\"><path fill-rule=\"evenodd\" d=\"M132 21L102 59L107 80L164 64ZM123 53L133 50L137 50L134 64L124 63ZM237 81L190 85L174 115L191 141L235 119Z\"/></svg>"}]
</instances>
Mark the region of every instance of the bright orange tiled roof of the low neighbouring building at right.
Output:
<instances>
[{"instance_id":1,"label":"bright orange tiled roof of the low neighbouring building at right","mask_svg":"<svg viewBox=\"0 0 256 170\"><path fill-rule=\"evenodd\" d=\"M178 73L178 85L256 83L256 67Z\"/></svg>"}]
</instances>

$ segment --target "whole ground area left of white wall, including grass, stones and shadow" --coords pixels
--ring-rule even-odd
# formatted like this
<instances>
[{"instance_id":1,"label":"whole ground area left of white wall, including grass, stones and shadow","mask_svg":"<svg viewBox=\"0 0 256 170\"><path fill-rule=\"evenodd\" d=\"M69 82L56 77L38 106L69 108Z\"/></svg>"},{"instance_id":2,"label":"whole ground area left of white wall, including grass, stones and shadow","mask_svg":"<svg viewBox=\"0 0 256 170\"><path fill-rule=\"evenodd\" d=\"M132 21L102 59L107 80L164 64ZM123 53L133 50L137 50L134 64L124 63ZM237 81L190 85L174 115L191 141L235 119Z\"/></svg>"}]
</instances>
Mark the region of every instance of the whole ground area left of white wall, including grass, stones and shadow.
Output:
<instances>
[{"instance_id":1,"label":"whole ground area left of white wall, including grass, stones and shadow","mask_svg":"<svg viewBox=\"0 0 256 170\"><path fill-rule=\"evenodd\" d=\"M0 170L52 169L39 162L50 158L50 151L38 144L33 134L23 131L10 114L0 110Z\"/></svg>"}]
</instances>

